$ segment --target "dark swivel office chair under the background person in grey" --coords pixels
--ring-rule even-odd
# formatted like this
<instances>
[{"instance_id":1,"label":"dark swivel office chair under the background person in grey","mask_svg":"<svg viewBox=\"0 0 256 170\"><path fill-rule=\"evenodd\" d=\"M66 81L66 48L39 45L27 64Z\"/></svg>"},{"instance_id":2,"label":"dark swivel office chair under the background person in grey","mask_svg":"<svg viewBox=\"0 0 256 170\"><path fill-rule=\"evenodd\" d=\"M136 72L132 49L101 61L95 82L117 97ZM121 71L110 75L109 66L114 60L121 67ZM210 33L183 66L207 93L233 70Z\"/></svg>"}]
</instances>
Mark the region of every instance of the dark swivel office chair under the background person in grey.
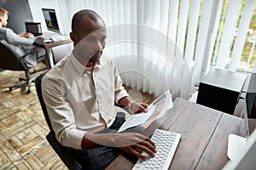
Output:
<instances>
[{"instance_id":1,"label":"dark swivel office chair under the background person in grey","mask_svg":"<svg viewBox=\"0 0 256 170\"><path fill-rule=\"evenodd\" d=\"M22 88L27 86L26 94L29 94L31 92L31 84L35 81L37 77L31 77L31 75L38 71L43 71L46 69L44 67L43 69L29 71L31 68L33 68L35 65L26 65L26 57L29 55L35 55L37 51L32 51L28 54L25 54L24 56L18 56L15 52L13 52L12 48L9 47L9 44L5 42L4 40L0 41L0 67L4 70L10 70L10 71L25 71L26 78L20 78L20 83L15 84L14 86L9 87L9 91L12 91L16 88ZM36 56L36 55L35 55ZM38 57L38 62L41 60L44 60L43 57ZM37 65L37 63L36 63Z\"/></svg>"}]
</instances>

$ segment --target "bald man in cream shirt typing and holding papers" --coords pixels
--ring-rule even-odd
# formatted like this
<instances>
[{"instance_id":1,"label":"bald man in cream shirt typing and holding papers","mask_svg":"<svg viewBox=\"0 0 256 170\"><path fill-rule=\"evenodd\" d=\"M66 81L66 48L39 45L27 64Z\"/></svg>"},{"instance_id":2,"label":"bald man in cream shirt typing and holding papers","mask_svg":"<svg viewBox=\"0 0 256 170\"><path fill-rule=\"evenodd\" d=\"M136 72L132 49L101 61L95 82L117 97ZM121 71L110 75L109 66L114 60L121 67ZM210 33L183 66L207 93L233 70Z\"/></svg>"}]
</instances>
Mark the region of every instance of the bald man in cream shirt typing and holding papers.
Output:
<instances>
[{"instance_id":1,"label":"bald man in cream shirt typing and holding papers","mask_svg":"<svg viewBox=\"0 0 256 170\"><path fill-rule=\"evenodd\" d=\"M114 104L134 113L147 105L132 102L122 86L113 60L102 56L107 37L102 18L84 9L73 15L73 53L61 59L43 78L42 90L56 139L75 149L73 155L87 169L104 169L120 150L143 160L154 156L154 143L140 133L101 133L117 130L125 121Z\"/></svg>"}]
</instances>

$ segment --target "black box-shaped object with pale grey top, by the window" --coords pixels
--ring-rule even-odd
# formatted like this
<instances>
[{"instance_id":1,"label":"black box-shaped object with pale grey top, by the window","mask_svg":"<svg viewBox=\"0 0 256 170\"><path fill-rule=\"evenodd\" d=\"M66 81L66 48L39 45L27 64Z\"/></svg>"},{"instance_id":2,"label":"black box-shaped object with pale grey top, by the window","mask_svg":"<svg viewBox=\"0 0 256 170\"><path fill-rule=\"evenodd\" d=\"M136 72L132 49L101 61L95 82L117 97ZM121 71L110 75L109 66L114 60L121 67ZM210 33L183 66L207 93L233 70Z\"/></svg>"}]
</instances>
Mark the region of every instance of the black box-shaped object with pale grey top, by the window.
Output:
<instances>
[{"instance_id":1,"label":"black box-shaped object with pale grey top, by the window","mask_svg":"<svg viewBox=\"0 0 256 170\"><path fill-rule=\"evenodd\" d=\"M212 69L199 84L196 103L234 114L247 75Z\"/></svg>"}]
</instances>

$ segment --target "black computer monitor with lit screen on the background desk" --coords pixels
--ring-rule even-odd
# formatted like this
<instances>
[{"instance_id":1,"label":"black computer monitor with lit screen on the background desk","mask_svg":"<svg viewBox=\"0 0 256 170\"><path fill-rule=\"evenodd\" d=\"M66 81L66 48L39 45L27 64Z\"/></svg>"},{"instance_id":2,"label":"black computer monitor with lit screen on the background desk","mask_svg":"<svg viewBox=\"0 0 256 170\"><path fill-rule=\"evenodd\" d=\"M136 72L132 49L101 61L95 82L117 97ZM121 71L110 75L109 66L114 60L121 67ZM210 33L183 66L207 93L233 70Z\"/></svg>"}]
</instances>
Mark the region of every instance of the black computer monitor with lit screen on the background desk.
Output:
<instances>
[{"instance_id":1,"label":"black computer monitor with lit screen on the background desk","mask_svg":"<svg viewBox=\"0 0 256 170\"><path fill-rule=\"evenodd\" d=\"M58 25L55 9L52 8L42 8L44 14L44 20L49 31L55 31L60 33L60 28Z\"/></svg>"}]
</instances>

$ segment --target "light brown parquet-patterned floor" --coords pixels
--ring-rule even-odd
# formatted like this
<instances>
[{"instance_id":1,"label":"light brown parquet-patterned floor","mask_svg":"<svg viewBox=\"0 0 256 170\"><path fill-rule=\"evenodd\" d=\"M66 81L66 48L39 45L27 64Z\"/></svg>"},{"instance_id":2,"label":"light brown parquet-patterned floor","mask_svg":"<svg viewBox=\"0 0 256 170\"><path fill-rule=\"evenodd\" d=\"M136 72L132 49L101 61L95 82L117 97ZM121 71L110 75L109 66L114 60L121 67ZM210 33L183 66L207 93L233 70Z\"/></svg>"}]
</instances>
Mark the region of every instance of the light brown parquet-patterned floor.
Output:
<instances>
[{"instance_id":1,"label":"light brown parquet-patterned floor","mask_svg":"<svg viewBox=\"0 0 256 170\"><path fill-rule=\"evenodd\" d=\"M49 128L34 84L31 94L26 94L26 89L6 92L18 77L24 77L24 72L0 72L0 169L67 169L45 139ZM138 101L154 99L127 89Z\"/></svg>"}]
</instances>

